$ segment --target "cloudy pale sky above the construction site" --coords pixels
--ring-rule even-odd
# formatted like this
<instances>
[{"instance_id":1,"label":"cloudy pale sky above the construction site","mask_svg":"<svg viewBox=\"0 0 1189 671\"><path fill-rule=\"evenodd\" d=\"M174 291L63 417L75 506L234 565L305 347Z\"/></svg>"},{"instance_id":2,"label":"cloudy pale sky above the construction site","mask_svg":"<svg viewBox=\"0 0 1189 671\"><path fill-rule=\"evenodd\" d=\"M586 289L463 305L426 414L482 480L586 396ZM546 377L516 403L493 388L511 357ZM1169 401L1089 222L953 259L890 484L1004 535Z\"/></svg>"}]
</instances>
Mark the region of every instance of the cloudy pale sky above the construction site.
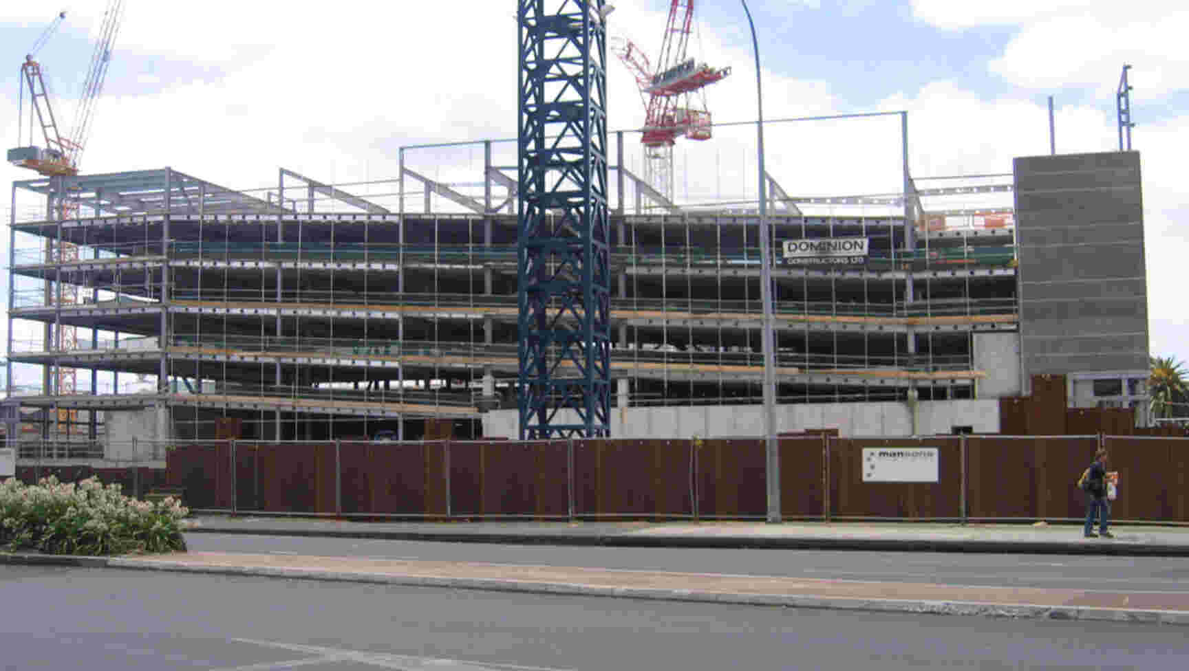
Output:
<instances>
[{"instance_id":1,"label":"cloudy pale sky above the construction site","mask_svg":"<svg viewBox=\"0 0 1189 671\"><path fill-rule=\"evenodd\" d=\"M0 68L8 72L0 77L6 147L18 141L18 68L25 51L57 11L67 10L39 61L64 116L73 118L106 4L0 7L0 59L10 64ZM655 51L668 2L616 5L611 32ZM1189 324L1176 289L1189 258L1189 197L1178 164L1189 156L1189 10L1171 0L750 5L763 57L765 115L907 110L910 164L918 177L1009 172L1013 157L1048 153L1049 95L1056 97L1058 152L1113 150L1114 90L1121 65L1131 63L1134 146L1144 170L1151 349L1189 359ZM515 7L512 0L127 0L83 170L169 165L253 188L276 183L277 167L285 166L342 183L395 177L402 146L514 138ZM709 93L715 120L754 120L754 65L742 8L732 0L699 4L697 25L691 50L732 68ZM611 64L609 114L612 128L635 128L643 120L634 82L618 63ZM711 143L679 146L678 194L754 197L755 181L744 169L749 134L724 129ZM769 163L786 191L850 195L897 188L894 118L788 125L772 137ZM474 160L473 147L410 153L410 162L426 170ZM30 176L0 166L5 183ZM471 179L482 176L474 172ZM4 201L0 210L8 207ZM0 238L7 245L7 236Z\"/></svg>"}]
</instances>

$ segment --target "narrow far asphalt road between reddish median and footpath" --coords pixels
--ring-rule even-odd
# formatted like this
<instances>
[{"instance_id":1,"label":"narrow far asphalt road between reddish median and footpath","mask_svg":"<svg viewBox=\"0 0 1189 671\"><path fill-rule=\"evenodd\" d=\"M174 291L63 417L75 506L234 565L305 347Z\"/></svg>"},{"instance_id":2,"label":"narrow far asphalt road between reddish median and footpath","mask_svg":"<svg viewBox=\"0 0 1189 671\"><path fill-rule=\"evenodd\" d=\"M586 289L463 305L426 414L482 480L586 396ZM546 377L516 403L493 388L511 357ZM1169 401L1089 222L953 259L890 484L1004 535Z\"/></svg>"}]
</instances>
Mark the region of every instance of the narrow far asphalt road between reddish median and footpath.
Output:
<instances>
[{"instance_id":1,"label":"narrow far asphalt road between reddish median and footpath","mask_svg":"<svg viewBox=\"0 0 1189 671\"><path fill-rule=\"evenodd\" d=\"M191 550L917 583L1189 591L1189 559L1061 555L572 547L190 533Z\"/></svg>"}]
</instances>

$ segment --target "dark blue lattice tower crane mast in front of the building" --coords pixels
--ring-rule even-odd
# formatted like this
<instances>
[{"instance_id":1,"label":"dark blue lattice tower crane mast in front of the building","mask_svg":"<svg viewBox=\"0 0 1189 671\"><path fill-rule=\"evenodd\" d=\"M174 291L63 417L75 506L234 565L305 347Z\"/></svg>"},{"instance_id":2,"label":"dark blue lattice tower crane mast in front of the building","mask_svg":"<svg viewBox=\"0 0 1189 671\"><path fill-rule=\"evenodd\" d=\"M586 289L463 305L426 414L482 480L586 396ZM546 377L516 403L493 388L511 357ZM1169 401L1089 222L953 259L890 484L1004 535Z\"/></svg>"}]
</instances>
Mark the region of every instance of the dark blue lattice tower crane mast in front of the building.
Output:
<instances>
[{"instance_id":1,"label":"dark blue lattice tower crane mast in front of the building","mask_svg":"<svg viewBox=\"0 0 1189 671\"><path fill-rule=\"evenodd\" d=\"M518 0L522 439L610 435L608 11Z\"/></svg>"}]
</instances>

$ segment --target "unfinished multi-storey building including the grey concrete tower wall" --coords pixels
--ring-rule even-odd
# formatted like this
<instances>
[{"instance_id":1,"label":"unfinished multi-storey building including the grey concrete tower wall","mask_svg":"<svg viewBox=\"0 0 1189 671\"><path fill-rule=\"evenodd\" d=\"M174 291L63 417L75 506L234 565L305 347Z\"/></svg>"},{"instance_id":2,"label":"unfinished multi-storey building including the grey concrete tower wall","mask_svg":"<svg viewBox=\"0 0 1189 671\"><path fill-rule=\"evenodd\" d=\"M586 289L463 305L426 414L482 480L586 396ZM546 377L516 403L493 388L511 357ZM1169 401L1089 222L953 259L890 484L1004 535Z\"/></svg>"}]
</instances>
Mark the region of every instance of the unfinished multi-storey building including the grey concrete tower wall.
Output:
<instances>
[{"instance_id":1,"label":"unfinished multi-storey building including the grey concrete tower wall","mask_svg":"<svg viewBox=\"0 0 1189 671\"><path fill-rule=\"evenodd\" d=\"M457 179L402 150L366 184L14 183L7 435L108 458L133 438L516 437L516 173L499 143L468 146L482 163ZM755 203L673 202L623 147L612 436L757 435ZM1138 154L904 167L875 196L768 176L779 430L998 432L999 399L1039 373L1068 375L1070 406L1143 409Z\"/></svg>"}]
</instances>

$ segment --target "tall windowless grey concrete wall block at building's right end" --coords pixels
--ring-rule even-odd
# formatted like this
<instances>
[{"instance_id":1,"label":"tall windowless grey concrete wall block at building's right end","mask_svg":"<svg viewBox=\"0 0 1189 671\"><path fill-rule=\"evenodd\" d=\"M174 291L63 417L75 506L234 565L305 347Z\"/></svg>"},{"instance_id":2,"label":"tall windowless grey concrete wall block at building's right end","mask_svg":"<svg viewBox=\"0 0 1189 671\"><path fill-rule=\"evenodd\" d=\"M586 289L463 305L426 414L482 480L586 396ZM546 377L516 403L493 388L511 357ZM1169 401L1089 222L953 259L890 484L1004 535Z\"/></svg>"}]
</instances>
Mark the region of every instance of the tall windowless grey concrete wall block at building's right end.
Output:
<instances>
[{"instance_id":1,"label":"tall windowless grey concrete wall block at building's right end","mask_svg":"<svg viewBox=\"0 0 1189 671\"><path fill-rule=\"evenodd\" d=\"M1137 152L1015 159L1021 379L1147 367Z\"/></svg>"}]
</instances>

